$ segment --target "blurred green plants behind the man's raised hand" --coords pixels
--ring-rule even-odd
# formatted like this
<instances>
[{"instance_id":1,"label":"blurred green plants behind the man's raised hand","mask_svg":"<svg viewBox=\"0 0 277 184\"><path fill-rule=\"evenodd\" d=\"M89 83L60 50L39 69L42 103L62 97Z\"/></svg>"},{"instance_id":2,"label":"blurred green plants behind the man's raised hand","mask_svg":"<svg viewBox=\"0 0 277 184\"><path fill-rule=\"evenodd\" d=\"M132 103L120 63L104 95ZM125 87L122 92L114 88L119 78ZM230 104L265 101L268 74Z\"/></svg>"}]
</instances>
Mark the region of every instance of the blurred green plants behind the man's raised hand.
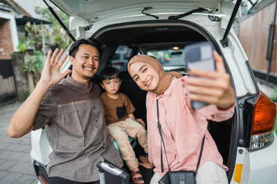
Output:
<instances>
[{"instance_id":1,"label":"blurred green plants behind the man's raised hand","mask_svg":"<svg viewBox=\"0 0 277 184\"><path fill-rule=\"evenodd\" d=\"M64 25L69 28L69 16L61 10L57 10L57 8L54 8L54 10ZM71 39L62 25L47 8L39 9L39 7L36 7L36 12L42 15L43 20L51 22L51 24L41 25L27 22L26 25L18 26L17 29L20 38L17 48L21 54L24 54L24 72L32 76L28 78L30 92L39 81L48 50L55 50L55 48L65 50L71 43ZM43 39L45 45L43 45Z\"/></svg>"}]
</instances>

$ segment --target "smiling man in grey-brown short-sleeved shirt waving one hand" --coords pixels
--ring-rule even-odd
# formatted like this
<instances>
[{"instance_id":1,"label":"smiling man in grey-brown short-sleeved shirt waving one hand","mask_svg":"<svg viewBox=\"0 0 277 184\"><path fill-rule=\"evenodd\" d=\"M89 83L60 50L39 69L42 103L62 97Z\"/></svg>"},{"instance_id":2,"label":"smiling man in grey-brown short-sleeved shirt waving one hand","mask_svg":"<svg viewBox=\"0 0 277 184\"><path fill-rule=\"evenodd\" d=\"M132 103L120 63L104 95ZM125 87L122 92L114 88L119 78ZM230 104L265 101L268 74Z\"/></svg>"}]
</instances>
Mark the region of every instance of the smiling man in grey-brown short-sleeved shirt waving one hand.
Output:
<instances>
[{"instance_id":1,"label":"smiling man in grey-brown short-sleeved shirt waving one hand","mask_svg":"<svg viewBox=\"0 0 277 184\"><path fill-rule=\"evenodd\" d=\"M100 88L91 82L98 70L99 48L96 40L75 41L69 50L72 72L63 73L60 68L67 54L59 62L63 50L56 49L52 56L49 51L35 90L10 121L7 132L11 137L47 125L46 135L53 149L47 165L50 184L99 183L98 161L123 166L107 137ZM109 178L115 183L116 178Z\"/></svg>"}]
</instances>

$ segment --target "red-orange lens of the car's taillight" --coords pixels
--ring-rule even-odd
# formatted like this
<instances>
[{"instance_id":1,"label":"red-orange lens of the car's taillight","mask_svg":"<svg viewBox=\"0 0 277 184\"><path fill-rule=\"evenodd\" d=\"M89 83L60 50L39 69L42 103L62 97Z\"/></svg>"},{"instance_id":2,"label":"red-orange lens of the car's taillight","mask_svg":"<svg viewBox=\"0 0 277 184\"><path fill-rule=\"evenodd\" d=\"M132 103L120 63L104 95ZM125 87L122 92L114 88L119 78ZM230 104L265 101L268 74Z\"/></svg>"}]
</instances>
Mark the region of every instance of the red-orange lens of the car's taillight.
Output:
<instances>
[{"instance_id":1,"label":"red-orange lens of the car's taillight","mask_svg":"<svg viewBox=\"0 0 277 184\"><path fill-rule=\"evenodd\" d=\"M276 104L260 91L254 104L251 135L264 134L274 130Z\"/></svg>"}]
</instances>

